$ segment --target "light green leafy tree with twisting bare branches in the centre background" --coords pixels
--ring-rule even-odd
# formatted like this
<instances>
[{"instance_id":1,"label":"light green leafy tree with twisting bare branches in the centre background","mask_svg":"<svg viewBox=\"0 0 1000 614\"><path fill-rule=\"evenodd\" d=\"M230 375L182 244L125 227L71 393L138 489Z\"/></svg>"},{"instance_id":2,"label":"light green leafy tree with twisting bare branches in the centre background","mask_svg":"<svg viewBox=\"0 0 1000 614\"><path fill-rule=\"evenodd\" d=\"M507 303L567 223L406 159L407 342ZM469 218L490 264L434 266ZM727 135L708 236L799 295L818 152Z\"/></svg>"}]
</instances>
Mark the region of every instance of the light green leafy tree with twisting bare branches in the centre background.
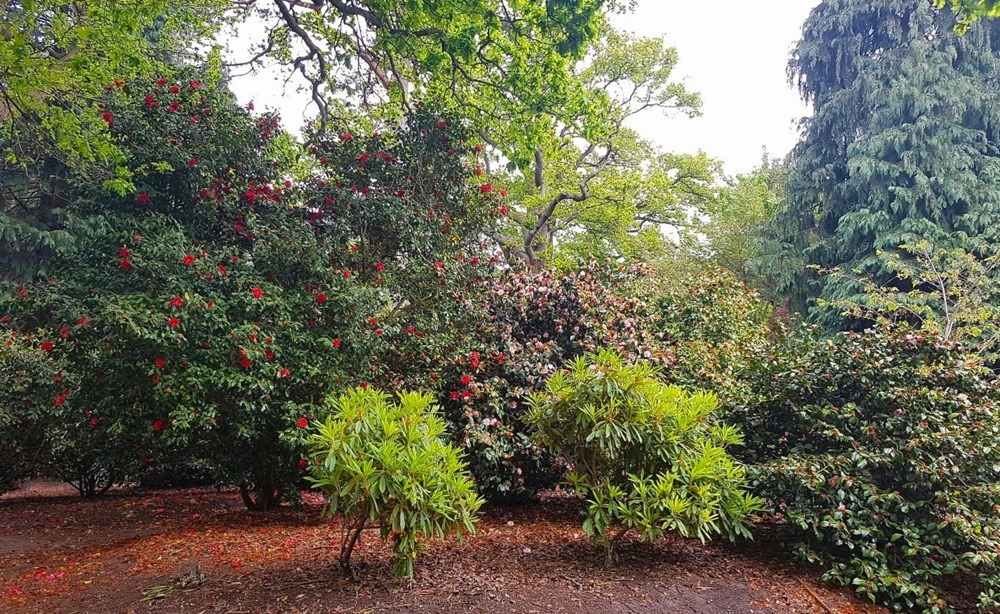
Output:
<instances>
[{"instance_id":1,"label":"light green leafy tree with twisting bare branches in the centre background","mask_svg":"<svg viewBox=\"0 0 1000 614\"><path fill-rule=\"evenodd\" d=\"M671 80L677 60L662 39L602 30L572 69L593 104L554 116L528 163L497 173L511 195L513 224L500 239L508 256L533 267L595 255L635 260L666 249L664 226L690 226L717 164L661 152L627 126L645 112L698 113L698 95Z\"/></svg>"}]
</instances>

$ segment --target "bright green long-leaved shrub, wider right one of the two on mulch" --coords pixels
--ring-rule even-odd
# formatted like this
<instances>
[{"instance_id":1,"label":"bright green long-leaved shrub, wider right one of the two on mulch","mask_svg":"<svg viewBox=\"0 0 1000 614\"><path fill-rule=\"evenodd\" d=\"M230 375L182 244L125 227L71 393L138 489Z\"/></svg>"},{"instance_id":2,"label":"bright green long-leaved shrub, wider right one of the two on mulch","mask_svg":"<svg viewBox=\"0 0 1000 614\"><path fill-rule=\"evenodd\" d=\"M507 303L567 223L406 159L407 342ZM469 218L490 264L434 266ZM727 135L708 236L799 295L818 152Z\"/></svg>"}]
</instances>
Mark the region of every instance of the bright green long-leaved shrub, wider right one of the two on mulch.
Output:
<instances>
[{"instance_id":1,"label":"bright green long-leaved shrub, wider right one of the two on mulch","mask_svg":"<svg viewBox=\"0 0 1000 614\"><path fill-rule=\"evenodd\" d=\"M558 455L587 499L584 531L607 563L629 531L642 539L671 532L701 540L749 536L759 501L726 452L737 429L709 420L709 393L687 394L657 380L648 363L627 365L609 350L587 354L532 395L525 420L533 438Z\"/></svg>"}]
</instances>

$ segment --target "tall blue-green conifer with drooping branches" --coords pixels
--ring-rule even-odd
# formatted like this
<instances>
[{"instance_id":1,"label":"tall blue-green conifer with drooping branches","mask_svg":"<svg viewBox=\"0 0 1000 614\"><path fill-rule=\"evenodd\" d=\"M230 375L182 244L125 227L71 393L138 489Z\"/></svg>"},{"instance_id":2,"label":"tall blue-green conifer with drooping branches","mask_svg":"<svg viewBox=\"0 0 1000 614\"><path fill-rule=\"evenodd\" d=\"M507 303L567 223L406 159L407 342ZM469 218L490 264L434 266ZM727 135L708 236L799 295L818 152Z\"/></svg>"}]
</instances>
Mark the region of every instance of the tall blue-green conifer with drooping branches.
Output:
<instances>
[{"instance_id":1,"label":"tall blue-green conifer with drooping branches","mask_svg":"<svg viewBox=\"0 0 1000 614\"><path fill-rule=\"evenodd\" d=\"M887 283L880 251L925 240L983 254L1000 238L1000 25L955 25L931 0L827 0L810 14L790 75L815 114L762 256L786 263L775 281L793 304L863 300L849 276L801 265ZM835 309L812 314L843 324Z\"/></svg>"}]
</instances>

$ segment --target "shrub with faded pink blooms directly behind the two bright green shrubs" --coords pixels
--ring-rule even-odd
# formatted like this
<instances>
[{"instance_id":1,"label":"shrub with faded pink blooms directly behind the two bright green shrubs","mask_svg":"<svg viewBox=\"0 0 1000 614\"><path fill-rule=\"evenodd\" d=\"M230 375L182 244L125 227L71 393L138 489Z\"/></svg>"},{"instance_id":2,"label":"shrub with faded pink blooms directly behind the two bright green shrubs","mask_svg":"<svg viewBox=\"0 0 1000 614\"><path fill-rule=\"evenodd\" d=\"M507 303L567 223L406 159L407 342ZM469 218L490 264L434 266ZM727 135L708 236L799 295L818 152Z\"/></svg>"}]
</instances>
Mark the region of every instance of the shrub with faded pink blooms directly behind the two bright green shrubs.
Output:
<instances>
[{"instance_id":1,"label":"shrub with faded pink blooms directly behind the two bright green shrubs","mask_svg":"<svg viewBox=\"0 0 1000 614\"><path fill-rule=\"evenodd\" d=\"M654 356L645 304L627 297L639 275L598 264L564 273L508 270L465 299L473 326L434 374L481 493L523 499L558 479L551 456L530 441L521 416L528 395L564 362L602 344L633 360Z\"/></svg>"}]
</instances>

